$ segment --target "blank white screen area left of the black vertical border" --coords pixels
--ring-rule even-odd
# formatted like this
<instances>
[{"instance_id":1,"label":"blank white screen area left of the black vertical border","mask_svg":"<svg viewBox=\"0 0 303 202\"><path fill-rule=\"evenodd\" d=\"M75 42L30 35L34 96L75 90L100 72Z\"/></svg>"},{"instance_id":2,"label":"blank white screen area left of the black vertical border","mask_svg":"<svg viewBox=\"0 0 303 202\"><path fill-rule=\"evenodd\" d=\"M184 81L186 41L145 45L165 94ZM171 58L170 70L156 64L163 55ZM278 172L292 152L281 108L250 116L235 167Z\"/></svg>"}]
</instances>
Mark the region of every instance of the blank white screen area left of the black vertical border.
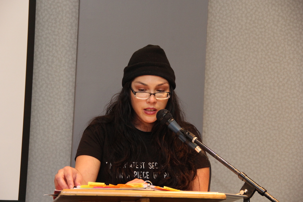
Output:
<instances>
[{"instance_id":1,"label":"blank white screen area left of the black vertical border","mask_svg":"<svg viewBox=\"0 0 303 202\"><path fill-rule=\"evenodd\" d=\"M0 200L18 200L28 0L0 0Z\"/></svg>"}]
</instances>

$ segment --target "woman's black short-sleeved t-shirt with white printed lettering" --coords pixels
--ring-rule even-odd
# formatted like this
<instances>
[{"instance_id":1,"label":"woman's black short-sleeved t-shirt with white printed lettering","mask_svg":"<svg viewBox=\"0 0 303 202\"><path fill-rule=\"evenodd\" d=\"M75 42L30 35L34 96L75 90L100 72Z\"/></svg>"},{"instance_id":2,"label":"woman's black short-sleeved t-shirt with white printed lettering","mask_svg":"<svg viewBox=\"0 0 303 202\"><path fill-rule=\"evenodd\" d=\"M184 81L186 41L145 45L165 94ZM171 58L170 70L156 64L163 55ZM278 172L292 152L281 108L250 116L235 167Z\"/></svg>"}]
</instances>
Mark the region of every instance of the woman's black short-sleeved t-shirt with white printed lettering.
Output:
<instances>
[{"instance_id":1,"label":"woman's black short-sleeved t-shirt with white printed lettering","mask_svg":"<svg viewBox=\"0 0 303 202\"><path fill-rule=\"evenodd\" d=\"M89 155L97 158L101 162L101 167L96 181L104 182L105 184L112 184L111 177L108 174L108 168L109 170L112 168L112 162L109 162L108 158L112 152L112 146L109 141L112 132L113 125L111 123L100 123L87 127L82 135L76 154L76 158L80 155ZM157 176L156 171L161 165L158 163L159 155L155 144L153 144L154 141L152 141L152 132L143 132L139 130L136 130L136 132L138 138L141 138L143 144L145 144L142 148L146 149L141 149L139 159L128 162L124 165L124 168L132 168L135 178L149 180L154 185L158 185L157 182L159 177L168 177L169 173L164 172L161 174L162 176ZM208 161L202 156L197 154L195 159L197 169L209 167ZM126 177L127 179L125 179L122 174L119 174L117 178L119 178L119 184L123 184L134 179L134 177Z\"/></svg>"}]
</instances>

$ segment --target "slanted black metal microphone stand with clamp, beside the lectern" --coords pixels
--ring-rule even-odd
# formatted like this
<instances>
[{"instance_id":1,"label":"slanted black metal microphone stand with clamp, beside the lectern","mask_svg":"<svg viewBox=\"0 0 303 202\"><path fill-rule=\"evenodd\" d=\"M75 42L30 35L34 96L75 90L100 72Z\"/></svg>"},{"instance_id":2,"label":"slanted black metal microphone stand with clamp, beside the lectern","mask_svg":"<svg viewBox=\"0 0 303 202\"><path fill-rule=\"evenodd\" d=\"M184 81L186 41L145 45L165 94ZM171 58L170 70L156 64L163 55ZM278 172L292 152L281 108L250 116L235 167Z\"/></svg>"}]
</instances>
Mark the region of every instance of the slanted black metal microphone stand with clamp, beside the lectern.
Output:
<instances>
[{"instance_id":1,"label":"slanted black metal microphone stand with clamp, beside the lectern","mask_svg":"<svg viewBox=\"0 0 303 202\"><path fill-rule=\"evenodd\" d=\"M250 202L250 198L253 196L253 194L255 193L255 191L258 191L258 193L261 194L261 196L265 196L266 198L268 198L272 202L279 202L277 199L275 199L270 194L268 194L266 189L264 189L263 187L259 186L253 180L251 180L245 173L238 171L235 167L233 167L231 164L229 164L227 161L225 161L223 158L221 158L218 154L216 154L211 149L209 149L204 144L202 144L194 134L192 134L191 132L183 130L183 128L181 128L180 131L192 143L195 143L199 147L202 147L208 154L210 154L215 159L217 159L218 161L220 161L223 165L225 165L226 167L228 167L229 170L233 171L236 175L238 175L238 177L239 177L240 180L242 180L242 181L245 182L244 185L243 185L243 187L240 190L240 194L241 195L245 194L247 196L247 197L245 197L243 199L243 202Z\"/></svg>"}]
</instances>

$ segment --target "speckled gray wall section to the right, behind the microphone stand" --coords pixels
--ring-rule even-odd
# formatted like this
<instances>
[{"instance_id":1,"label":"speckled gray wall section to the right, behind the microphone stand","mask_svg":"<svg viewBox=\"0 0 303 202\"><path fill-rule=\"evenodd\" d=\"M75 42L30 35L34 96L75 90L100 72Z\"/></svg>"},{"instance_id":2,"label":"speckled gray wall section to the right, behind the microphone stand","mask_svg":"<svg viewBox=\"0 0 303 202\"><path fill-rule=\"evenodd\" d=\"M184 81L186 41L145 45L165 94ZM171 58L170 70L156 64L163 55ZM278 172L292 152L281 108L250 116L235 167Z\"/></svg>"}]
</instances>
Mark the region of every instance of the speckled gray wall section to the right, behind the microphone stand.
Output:
<instances>
[{"instance_id":1,"label":"speckled gray wall section to the right, behind the microphone stand","mask_svg":"<svg viewBox=\"0 0 303 202\"><path fill-rule=\"evenodd\" d=\"M210 0L207 29L205 144L279 201L302 201L303 1ZM210 159L211 191L238 193Z\"/></svg>"}]
</instances>

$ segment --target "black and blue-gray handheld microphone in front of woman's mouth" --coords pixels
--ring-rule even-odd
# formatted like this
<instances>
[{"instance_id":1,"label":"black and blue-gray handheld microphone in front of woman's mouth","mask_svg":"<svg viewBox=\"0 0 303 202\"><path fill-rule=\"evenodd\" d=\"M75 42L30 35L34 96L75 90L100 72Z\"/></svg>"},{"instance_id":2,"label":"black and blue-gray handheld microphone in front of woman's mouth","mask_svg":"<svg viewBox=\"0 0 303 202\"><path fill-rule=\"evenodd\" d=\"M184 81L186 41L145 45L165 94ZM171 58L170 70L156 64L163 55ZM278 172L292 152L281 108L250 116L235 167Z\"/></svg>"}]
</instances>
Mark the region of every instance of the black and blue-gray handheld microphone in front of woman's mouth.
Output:
<instances>
[{"instance_id":1,"label":"black and blue-gray handheld microphone in front of woman's mouth","mask_svg":"<svg viewBox=\"0 0 303 202\"><path fill-rule=\"evenodd\" d=\"M157 117L157 120L160 122L160 124L166 124L168 126L168 128L170 130L172 130L179 137L179 139L182 142L184 142L189 147L191 147L192 149L194 149L197 153L201 154L203 157L205 157L206 159L208 159L208 157L205 154L205 152L201 152L202 151L201 148L197 144L194 143L194 141L195 141L195 139L197 139L197 137L195 137L195 135L190 134L187 131L185 131L184 128L181 128L179 126L179 124L175 121L175 119L172 118L171 113L167 109L161 109L161 110L159 110L157 112L156 117ZM188 139L184 136L183 131L187 132L189 135L193 136L192 142L188 141Z\"/></svg>"}]
</instances>

